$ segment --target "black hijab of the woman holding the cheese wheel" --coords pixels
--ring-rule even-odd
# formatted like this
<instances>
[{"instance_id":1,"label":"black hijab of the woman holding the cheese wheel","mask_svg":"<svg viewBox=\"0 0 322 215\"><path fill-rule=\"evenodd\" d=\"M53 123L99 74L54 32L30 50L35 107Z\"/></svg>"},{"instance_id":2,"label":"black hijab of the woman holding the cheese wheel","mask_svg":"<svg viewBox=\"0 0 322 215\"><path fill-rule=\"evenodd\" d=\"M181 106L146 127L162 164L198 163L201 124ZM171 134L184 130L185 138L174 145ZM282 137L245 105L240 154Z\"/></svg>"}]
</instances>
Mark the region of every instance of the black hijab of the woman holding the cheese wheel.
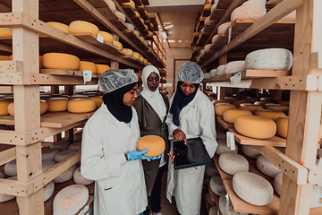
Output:
<instances>
[{"instance_id":1,"label":"black hijab of the woman holding the cheese wheel","mask_svg":"<svg viewBox=\"0 0 322 215\"><path fill-rule=\"evenodd\" d=\"M131 107L124 105L123 96L132 90L139 82L133 82L120 89L106 93L103 96L104 104L111 114L120 122L130 123L132 117Z\"/></svg>"}]
</instances>

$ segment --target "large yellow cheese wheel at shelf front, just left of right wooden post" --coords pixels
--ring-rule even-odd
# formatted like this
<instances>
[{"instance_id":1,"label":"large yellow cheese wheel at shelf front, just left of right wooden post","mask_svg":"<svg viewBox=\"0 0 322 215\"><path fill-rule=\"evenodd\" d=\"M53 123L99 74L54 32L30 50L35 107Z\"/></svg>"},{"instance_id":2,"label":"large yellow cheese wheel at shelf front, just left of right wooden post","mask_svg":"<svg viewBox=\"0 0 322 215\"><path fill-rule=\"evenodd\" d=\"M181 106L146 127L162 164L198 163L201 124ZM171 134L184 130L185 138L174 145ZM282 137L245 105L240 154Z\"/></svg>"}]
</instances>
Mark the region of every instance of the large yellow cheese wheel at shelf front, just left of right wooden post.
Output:
<instances>
[{"instance_id":1,"label":"large yellow cheese wheel at shelf front, just left of right wooden post","mask_svg":"<svg viewBox=\"0 0 322 215\"><path fill-rule=\"evenodd\" d=\"M256 139L269 139L276 133L275 122L263 116L238 116L234 128L238 133Z\"/></svg>"}]
</instances>

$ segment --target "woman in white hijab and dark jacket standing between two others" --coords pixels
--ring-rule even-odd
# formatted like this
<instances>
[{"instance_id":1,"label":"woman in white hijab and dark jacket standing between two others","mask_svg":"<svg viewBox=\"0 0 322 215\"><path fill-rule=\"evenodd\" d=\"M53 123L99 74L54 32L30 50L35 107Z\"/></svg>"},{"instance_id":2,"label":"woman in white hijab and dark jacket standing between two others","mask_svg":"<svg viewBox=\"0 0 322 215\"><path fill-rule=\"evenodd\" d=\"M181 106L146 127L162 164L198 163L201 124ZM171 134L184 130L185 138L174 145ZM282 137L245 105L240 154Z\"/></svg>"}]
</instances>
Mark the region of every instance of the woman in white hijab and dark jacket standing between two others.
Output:
<instances>
[{"instance_id":1,"label":"woman in white hijab and dark jacket standing between two others","mask_svg":"<svg viewBox=\"0 0 322 215\"><path fill-rule=\"evenodd\" d=\"M134 106L137 110L140 125L140 135L157 135L165 141L165 152L161 159L148 162L142 160L145 182L147 185L148 202L152 215L161 215L161 178L166 170L169 141L165 117L169 110L167 97L158 90L160 73L154 65L147 65L142 70L143 90ZM149 214L149 209L144 211Z\"/></svg>"}]
</instances>

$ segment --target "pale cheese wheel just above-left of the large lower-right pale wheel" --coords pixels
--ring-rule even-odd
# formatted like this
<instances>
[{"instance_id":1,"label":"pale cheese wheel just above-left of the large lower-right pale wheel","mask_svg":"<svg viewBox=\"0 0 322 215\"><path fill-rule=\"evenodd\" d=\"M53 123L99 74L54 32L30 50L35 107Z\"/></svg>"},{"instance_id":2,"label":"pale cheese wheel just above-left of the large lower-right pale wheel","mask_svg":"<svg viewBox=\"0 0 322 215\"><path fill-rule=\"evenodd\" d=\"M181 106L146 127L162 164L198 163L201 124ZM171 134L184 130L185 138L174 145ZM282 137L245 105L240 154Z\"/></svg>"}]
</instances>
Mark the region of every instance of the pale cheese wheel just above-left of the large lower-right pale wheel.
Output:
<instances>
[{"instance_id":1,"label":"pale cheese wheel just above-left of the large lower-right pale wheel","mask_svg":"<svg viewBox=\"0 0 322 215\"><path fill-rule=\"evenodd\" d=\"M249 162L242 155L226 152L219 156L219 167L229 175L248 172L249 166Z\"/></svg>"}]
</instances>

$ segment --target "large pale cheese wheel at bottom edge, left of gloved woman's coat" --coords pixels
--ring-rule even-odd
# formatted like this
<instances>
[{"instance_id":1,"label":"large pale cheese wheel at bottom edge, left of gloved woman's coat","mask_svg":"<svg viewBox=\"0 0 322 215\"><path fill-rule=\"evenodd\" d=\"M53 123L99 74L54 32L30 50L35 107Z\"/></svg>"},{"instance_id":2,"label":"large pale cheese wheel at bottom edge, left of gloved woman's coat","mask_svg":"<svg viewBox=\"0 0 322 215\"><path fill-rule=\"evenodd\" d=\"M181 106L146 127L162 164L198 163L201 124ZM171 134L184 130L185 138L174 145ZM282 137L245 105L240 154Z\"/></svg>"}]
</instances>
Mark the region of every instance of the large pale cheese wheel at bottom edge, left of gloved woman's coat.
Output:
<instances>
[{"instance_id":1,"label":"large pale cheese wheel at bottom edge, left of gloved woman's coat","mask_svg":"<svg viewBox=\"0 0 322 215\"><path fill-rule=\"evenodd\" d=\"M89 200L89 190L84 185L69 185L55 195L54 215L76 214Z\"/></svg>"}]
</instances>

